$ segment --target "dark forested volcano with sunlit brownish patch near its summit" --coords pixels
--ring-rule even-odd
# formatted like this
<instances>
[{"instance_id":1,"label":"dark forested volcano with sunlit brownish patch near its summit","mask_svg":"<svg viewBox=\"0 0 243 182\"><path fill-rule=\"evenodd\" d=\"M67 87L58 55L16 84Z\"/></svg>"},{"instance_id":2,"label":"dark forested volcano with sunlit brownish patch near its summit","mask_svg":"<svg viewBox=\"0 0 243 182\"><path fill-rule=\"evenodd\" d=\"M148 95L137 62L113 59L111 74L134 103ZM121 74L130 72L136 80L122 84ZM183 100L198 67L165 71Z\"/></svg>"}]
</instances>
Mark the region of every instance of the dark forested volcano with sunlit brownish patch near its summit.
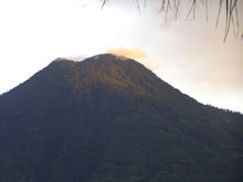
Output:
<instances>
[{"instance_id":1,"label":"dark forested volcano with sunlit brownish patch near its summit","mask_svg":"<svg viewBox=\"0 0 243 182\"><path fill-rule=\"evenodd\" d=\"M240 182L242 122L133 60L59 60L0 97L0 181Z\"/></svg>"}]
</instances>

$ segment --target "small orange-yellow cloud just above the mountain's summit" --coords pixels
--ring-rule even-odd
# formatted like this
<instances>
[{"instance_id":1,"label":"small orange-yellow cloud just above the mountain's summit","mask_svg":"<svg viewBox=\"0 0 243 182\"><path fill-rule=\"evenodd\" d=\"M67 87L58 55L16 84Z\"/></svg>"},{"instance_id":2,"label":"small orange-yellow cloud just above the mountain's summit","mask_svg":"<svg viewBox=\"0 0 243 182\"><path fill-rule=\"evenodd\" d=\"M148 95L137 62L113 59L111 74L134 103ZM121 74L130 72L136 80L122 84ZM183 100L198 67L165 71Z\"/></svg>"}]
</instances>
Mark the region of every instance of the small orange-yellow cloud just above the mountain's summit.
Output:
<instances>
[{"instance_id":1,"label":"small orange-yellow cloud just above the mountain's summit","mask_svg":"<svg viewBox=\"0 0 243 182\"><path fill-rule=\"evenodd\" d=\"M130 58L147 58L147 54L144 53L140 49L114 49L107 47L107 53L126 56Z\"/></svg>"}]
</instances>

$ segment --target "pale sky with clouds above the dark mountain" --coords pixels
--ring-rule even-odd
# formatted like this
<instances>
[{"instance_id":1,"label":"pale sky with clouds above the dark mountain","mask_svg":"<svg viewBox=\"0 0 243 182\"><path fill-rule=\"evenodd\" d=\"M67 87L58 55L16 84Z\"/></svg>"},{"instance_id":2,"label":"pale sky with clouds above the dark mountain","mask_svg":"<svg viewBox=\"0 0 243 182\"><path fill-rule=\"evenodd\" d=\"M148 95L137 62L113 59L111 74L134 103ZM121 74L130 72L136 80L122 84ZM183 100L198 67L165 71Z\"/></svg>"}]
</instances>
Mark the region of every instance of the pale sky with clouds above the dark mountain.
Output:
<instances>
[{"instance_id":1,"label":"pale sky with clouds above the dark mountain","mask_svg":"<svg viewBox=\"0 0 243 182\"><path fill-rule=\"evenodd\" d=\"M215 29L219 1L198 4L186 20L188 1L159 12L161 0L1 0L0 94L56 57L81 61L115 53L142 63L198 101L243 114L243 41L233 29L225 42L225 17ZM243 33L243 1L239 1Z\"/></svg>"}]
</instances>

